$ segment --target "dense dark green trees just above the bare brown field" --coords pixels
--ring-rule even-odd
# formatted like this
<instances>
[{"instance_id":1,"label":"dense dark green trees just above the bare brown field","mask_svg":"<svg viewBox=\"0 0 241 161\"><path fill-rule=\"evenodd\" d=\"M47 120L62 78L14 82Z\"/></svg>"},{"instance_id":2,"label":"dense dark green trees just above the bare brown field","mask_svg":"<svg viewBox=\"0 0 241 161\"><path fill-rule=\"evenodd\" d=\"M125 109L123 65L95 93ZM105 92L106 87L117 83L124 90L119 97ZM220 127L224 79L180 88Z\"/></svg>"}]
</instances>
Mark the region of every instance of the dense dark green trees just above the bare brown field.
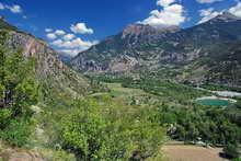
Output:
<instances>
[{"instance_id":1,"label":"dense dark green trees just above the bare brown field","mask_svg":"<svg viewBox=\"0 0 241 161\"><path fill-rule=\"evenodd\" d=\"M168 135L173 139L225 147L228 143L241 143L241 128L228 113L228 110L220 107L162 105L156 108L152 119L160 126L167 125Z\"/></svg>"}]
</instances>

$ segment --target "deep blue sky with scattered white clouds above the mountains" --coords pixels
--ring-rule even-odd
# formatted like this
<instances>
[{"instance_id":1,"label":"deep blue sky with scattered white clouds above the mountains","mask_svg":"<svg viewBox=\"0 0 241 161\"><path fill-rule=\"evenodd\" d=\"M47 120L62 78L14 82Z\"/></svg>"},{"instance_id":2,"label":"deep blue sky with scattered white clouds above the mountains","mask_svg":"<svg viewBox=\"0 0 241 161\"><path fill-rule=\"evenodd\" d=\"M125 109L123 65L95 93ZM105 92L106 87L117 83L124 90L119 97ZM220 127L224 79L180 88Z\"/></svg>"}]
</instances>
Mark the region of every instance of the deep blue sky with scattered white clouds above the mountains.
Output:
<instances>
[{"instance_id":1,"label":"deep blue sky with scattered white clouds above the mountains","mask_svg":"<svg viewBox=\"0 0 241 161\"><path fill-rule=\"evenodd\" d=\"M241 16L241 1L0 0L0 14L9 22L71 56L131 23L190 27L222 11Z\"/></svg>"}]
</instances>

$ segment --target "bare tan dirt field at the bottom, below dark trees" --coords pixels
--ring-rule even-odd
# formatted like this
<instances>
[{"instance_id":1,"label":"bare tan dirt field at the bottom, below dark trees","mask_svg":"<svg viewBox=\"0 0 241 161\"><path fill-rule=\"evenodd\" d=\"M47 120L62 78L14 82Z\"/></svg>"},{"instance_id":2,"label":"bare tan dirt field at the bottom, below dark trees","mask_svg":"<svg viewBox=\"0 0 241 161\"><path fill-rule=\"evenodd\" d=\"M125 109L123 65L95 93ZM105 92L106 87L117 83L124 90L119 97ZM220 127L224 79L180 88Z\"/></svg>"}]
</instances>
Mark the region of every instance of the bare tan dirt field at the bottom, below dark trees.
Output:
<instances>
[{"instance_id":1,"label":"bare tan dirt field at the bottom, below dark trees","mask_svg":"<svg viewBox=\"0 0 241 161\"><path fill-rule=\"evenodd\" d=\"M220 158L221 148L207 149L196 146L164 146L162 148L168 161L227 161Z\"/></svg>"}]
</instances>

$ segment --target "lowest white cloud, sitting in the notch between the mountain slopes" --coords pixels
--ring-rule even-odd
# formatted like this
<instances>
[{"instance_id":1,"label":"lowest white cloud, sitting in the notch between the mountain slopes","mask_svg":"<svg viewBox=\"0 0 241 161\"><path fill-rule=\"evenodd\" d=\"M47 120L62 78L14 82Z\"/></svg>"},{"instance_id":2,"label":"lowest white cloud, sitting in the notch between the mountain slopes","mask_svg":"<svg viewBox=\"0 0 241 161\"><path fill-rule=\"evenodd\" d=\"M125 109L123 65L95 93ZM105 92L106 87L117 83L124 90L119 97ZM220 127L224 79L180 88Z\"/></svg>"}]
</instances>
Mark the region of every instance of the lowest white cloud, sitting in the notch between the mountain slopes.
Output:
<instances>
[{"instance_id":1,"label":"lowest white cloud, sitting in the notch between the mountain slopes","mask_svg":"<svg viewBox=\"0 0 241 161\"><path fill-rule=\"evenodd\" d=\"M70 56L76 56L77 54L89 49L91 46L95 44L97 44L97 41L83 41L79 37L72 41L56 39L51 43L51 45L61 48L59 49L61 53L65 53Z\"/></svg>"}]
</instances>

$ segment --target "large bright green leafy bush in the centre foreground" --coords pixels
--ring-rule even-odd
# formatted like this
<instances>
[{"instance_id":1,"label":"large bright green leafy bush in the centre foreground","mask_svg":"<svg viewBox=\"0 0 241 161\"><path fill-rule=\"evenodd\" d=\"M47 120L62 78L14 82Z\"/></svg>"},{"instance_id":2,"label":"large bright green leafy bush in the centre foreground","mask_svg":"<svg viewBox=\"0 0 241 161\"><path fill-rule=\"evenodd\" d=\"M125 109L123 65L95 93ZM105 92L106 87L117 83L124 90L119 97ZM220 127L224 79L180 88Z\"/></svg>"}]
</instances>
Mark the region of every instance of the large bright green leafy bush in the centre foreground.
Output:
<instances>
[{"instance_id":1,"label":"large bright green leafy bush in the centre foreground","mask_svg":"<svg viewBox=\"0 0 241 161\"><path fill-rule=\"evenodd\" d=\"M149 120L148 110L110 99L104 102L100 105L95 100L85 100L76 104L62 119L62 147L81 160L140 160L158 156L163 131Z\"/></svg>"}]
</instances>

